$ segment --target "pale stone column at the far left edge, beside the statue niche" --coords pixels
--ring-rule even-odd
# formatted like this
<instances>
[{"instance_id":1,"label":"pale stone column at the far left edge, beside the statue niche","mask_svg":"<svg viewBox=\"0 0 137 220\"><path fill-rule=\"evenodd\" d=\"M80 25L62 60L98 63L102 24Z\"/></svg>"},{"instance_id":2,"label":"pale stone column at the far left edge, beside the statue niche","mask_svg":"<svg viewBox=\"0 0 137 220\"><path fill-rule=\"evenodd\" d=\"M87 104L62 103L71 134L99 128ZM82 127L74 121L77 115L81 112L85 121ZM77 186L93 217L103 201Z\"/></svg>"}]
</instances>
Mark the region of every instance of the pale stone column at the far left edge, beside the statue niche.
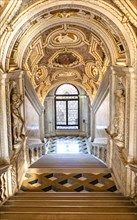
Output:
<instances>
[{"instance_id":1,"label":"pale stone column at the far left edge, beside the statue niche","mask_svg":"<svg viewBox=\"0 0 137 220\"><path fill-rule=\"evenodd\" d=\"M7 74L0 73L0 164L9 163L8 118L6 101Z\"/></svg>"}]
</instances>

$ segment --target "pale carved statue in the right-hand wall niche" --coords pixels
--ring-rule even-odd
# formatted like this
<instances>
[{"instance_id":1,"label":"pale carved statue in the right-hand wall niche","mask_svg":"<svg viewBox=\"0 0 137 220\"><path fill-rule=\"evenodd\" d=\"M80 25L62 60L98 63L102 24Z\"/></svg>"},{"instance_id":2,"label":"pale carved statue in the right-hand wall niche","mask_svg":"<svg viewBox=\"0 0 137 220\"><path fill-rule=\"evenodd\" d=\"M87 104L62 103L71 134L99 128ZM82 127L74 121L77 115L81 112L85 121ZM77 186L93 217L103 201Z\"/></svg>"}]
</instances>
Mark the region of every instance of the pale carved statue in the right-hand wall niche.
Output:
<instances>
[{"instance_id":1,"label":"pale carved statue in the right-hand wall niche","mask_svg":"<svg viewBox=\"0 0 137 220\"><path fill-rule=\"evenodd\" d=\"M117 89L115 91L116 96L116 114L114 118L114 129L117 133L116 139L118 141L124 141L124 120L125 120L125 94L124 89Z\"/></svg>"}]
</instances>

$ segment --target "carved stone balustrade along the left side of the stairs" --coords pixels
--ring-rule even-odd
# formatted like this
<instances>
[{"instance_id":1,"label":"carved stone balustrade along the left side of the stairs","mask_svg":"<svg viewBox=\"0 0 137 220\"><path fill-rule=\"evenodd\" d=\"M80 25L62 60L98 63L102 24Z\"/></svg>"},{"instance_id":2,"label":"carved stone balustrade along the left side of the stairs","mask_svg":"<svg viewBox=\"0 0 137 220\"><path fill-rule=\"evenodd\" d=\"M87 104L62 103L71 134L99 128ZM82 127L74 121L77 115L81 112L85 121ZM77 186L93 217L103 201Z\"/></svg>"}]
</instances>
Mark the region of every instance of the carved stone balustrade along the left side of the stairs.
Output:
<instances>
[{"instance_id":1,"label":"carved stone balustrade along the left side of the stairs","mask_svg":"<svg viewBox=\"0 0 137 220\"><path fill-rule=\"evenodd\" d=\"M19 149L15 149L8 165L0 169L0 205L14 195L21 186L22 178L27 169L27 146L23 141Z\"/></svg>"}]
</instances>

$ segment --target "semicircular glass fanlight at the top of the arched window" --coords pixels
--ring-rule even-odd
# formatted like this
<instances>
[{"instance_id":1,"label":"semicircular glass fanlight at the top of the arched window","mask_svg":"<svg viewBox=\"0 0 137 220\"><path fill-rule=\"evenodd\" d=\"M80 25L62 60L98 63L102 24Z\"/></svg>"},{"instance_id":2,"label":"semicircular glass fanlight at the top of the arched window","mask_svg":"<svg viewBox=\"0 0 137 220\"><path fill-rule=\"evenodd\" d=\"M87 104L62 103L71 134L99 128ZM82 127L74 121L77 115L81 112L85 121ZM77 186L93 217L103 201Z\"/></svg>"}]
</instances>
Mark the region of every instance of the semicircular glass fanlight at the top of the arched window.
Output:
<instances>
[{"instance_id":1,"label":"semicircular glass fanlight at the top of the arched window","mask_svg":"<svg viewBox=\"0 0 137 220\"><path fill-rule=\"evenodd\" d=\"M56 95L71 95L71 94L72 95L78 94L78 91L75 88L75 86L71 84L63 84L56 91Z\"/></svg>"}]
</instances>

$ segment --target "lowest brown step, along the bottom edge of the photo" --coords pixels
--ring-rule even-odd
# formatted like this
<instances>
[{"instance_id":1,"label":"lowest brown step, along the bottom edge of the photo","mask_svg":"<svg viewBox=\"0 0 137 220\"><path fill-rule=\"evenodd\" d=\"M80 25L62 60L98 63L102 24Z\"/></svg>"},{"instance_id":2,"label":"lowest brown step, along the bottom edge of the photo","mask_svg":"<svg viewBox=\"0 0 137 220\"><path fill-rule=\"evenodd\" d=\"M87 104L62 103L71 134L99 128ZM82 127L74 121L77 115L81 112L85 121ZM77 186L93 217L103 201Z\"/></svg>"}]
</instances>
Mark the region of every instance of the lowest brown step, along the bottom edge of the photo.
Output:
<instances>
[{"instance_id":1,"label":"lowest brown step, along the bottom edge of the photo","mask_svg":"<svg viewBox=\"0 0 137 220\"><path fill-rule=\"evenodd\" d=\"M75 212L75 213L38 213L38 212L9 212L0 215L1 220L136 220L137 215L131 213L87 213L87 212Z\"/></svg>"}]
</instances>

